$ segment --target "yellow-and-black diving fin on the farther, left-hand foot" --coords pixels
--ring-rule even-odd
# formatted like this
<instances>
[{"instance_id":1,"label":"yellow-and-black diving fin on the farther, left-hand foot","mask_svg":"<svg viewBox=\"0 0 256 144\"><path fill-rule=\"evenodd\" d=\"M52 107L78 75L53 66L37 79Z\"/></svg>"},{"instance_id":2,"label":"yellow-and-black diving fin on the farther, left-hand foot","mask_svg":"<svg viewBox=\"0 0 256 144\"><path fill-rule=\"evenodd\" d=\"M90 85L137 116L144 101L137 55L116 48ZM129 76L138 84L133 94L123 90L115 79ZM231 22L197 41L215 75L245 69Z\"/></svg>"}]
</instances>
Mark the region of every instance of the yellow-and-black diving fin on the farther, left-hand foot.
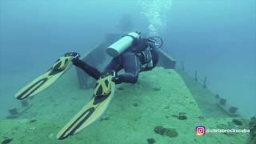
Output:
<instances>
[{"instance_id":1,"label":"yellow-and-black diving fin on the farther, left-hand foot","mask_svg":"<svg viewBox=\"0 0 256 144\"><path fill-rule=\"evenodd\" d=\"M20 100L29 98L51 86L58 78L62 76L62 74L66 72L66 70L70 69L70 66L73 64L73 58L74 57L69 54L64 54L54 63L50 70L47 70L45 74L35 78L34 81L23 87L22 90L19 90L18 93L15 94L15 98Z\"/></svg>"}]
</instances>

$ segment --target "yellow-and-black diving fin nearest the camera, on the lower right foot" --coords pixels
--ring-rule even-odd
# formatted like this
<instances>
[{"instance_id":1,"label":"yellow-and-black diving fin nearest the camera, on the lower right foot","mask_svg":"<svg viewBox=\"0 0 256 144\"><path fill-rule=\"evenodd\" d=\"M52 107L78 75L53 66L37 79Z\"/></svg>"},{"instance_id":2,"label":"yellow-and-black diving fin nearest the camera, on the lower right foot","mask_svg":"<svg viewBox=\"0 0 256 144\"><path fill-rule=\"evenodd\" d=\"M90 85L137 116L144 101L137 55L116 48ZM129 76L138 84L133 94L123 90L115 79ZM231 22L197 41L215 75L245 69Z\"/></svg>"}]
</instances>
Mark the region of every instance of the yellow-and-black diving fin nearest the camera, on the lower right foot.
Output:
<instances>
[{"instance_id":1,"label":"yellow-and-black diving fin nearest the camera, on the lower right foot","mask_svg":"<svg viewBox=\"0 0 256 144\"><path fill-rule=\"evenodd\" d=\"M90 102L58 132L58 139L62 140L78 133L102 116L111 98L114 97L115 83L112 82L112 78L113 75L107 73L98 79Z\"/></svg>"}]
</instances>

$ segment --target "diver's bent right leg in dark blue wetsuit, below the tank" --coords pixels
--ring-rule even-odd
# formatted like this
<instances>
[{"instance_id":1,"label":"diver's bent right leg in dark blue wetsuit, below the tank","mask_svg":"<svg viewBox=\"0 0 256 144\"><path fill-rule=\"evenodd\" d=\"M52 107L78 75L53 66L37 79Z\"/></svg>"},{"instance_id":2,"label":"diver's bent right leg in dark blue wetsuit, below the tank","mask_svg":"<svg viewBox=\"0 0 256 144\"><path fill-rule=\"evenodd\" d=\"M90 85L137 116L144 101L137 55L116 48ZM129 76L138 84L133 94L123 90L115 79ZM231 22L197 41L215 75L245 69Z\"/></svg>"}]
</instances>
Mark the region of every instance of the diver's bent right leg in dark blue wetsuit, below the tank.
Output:
<instances>
[{"instance_id":1,"label":"diver's bent right leg in dark blue wetsuit, below the tank","mask_svg":"<svg viewBox=\"0 0 256 144\"><path fill-rule=\"evenodd\" d=\"M118 75L118 83L136 83L138 82L138 75L140 72L141 62L137 55L134 53L122 54L122 67L125 70L125 74Z\"/></svg>"}]
</instances>

